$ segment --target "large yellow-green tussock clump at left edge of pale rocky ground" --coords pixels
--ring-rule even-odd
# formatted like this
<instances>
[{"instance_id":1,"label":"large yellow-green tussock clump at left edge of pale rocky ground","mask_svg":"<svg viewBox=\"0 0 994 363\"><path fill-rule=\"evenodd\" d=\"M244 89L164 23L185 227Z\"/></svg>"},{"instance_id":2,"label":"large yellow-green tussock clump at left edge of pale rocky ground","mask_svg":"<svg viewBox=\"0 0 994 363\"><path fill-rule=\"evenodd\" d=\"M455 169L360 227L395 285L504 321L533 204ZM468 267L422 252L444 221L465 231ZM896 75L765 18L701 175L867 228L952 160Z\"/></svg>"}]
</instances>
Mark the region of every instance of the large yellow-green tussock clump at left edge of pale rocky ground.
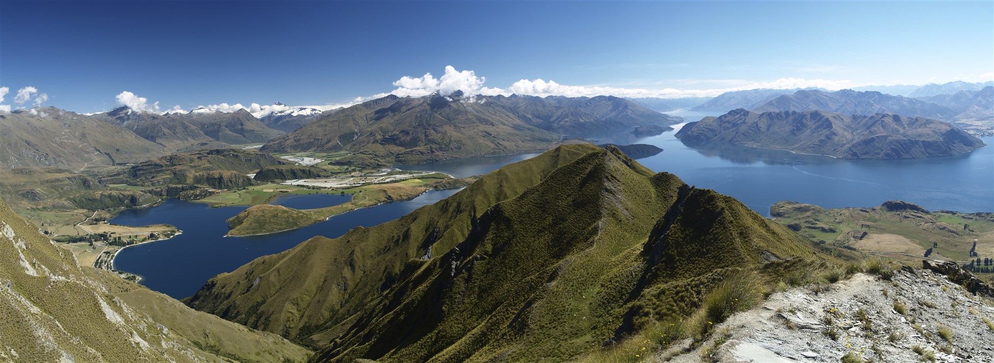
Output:
<instances>
[{"instance_id":1,"label":"large yellow-green tussock clump at left edge of pale rocky ground","mask_svg":"<svg viewBox=\"0 0 994 363\"><path fill-rule=\"evenodd\" d=\"M754 272L729 276L705 296L698 309L684 324L685 335L700 339L714 324L721 323L736 311L748 309L762 300L764 288Z\"/></svg>"}]
</instances>

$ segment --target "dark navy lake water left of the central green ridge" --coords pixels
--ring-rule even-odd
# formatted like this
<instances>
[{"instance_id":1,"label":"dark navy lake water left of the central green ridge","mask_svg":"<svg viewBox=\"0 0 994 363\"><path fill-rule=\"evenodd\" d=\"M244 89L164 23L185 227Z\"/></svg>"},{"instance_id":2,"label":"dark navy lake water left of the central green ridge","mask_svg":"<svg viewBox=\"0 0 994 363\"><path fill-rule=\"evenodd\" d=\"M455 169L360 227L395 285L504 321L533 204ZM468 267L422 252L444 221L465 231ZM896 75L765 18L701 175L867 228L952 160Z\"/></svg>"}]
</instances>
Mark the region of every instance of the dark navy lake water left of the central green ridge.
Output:
<instances>
[{"instance_id":1,"label":"dark navy lake water left of the central green ridge","mask_svg":"<svg viewBox=\"0 0 994 363\"><path fill-rule=\"evenodd\" d=\"M110 220L124 226L168 224L183 231L169 240L122 250L114 259L114 269L141 275L141 283L149 288L183 298L197 292L214 275L233 272L256 258L289 250L314 236L336 238L357 226L373 227L398 219L459 190L432 190L410 201L357 209L298 230L251 237L224 237L228 233L225 220L246 207L211 208L169 199L157 207L125 210Z\"/></svg>"}]
</instances>

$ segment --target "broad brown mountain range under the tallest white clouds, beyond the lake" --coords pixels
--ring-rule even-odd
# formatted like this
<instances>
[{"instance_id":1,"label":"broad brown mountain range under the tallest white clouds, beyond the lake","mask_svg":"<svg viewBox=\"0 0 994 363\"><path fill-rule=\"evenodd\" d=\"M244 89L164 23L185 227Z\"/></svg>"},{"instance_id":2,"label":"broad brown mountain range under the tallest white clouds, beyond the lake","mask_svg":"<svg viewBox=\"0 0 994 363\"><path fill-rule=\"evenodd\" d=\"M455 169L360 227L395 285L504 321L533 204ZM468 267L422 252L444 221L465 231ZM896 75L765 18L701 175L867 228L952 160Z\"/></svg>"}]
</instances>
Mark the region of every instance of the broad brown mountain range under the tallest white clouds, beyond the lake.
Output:
<instances>
[{"instance_id":1,"label":"broad brown mountain range under the tallest white clouds, beyond the lake","mask_svg":"<svg viewBox=\"0 0 994 363\"><path fill-rule=\"evenodd\" d=\"M341 162L415 164L544 150L562 134L677 122L613 96L389 95L322 116L262 151L347 150L357 155Z\"/></svg>"}]
</instances>

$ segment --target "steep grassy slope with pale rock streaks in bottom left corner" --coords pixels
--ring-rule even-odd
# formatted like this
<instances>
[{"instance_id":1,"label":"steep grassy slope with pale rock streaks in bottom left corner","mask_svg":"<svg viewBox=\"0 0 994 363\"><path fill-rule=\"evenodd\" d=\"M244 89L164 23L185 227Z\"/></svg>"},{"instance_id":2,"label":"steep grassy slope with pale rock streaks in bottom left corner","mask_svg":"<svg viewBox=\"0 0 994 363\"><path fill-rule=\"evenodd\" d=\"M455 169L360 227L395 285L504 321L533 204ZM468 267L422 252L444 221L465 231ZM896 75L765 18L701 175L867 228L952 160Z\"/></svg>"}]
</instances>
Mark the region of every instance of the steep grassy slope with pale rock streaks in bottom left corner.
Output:
<instances>
[{"instance_id":1,"label":"steep grassy slope with pale rock streaks in bottom left corner","mask_svg":"<svg viewBox=\"0 0 994 363\"><path fill-rule=\"evenodd\" d=\"M0 316L3 361L270 362L310 354L273 334L81 267L2 202Z\"/></svg>"}]
</instances>

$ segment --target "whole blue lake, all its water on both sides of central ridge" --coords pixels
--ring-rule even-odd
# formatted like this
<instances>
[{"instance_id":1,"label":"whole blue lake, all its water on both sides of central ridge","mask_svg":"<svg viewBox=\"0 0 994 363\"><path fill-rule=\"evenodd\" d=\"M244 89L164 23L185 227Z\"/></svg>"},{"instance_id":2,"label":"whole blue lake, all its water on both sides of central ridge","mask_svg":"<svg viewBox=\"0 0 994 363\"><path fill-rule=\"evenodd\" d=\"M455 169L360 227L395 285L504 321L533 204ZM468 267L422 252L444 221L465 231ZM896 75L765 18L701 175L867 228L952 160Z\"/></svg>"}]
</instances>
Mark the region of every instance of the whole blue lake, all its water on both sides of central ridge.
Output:
<instances>
[{"instance_id":1,"label":"whole blue lake, all its water on both sides of central ridge","mask_svg":"<svg viewBox=\"0 0 994 363\"><path fill-rule=\"evenodd\" d=\"M667 113L684 116L687 120L714 115L708 112ZM691 147L676 139L674 133L667 131L648 137L635 137L626 132L578 136L596 139L597 143L648 143L662 147L663 152L638 162L657 172L676 174L698 188L733 196L767 217L769 206L782 200L840 208L873 207L898 199L930 210L994 211L994 146L927 159L843 160L760 148ZM994 144L994 137L983 140L988 145ZM538 154L476 157L397 167L465 177L486 174L535 155ZM169 200L154 208L126 210L110 222L129 226L165 223L176 226L183 234L171 240L127 248L118 253L114 267L143 276L142 283L149 288L182 298L196 292L210 277L232 272L255 258L280 253L314 236L335 238L356 226L372 227L394 220L456 191L430 191L411 201L348 212L303 229L248 238L223 237L228 232L225 220L245 207L210 208L199 203ZM347 200L347 197L335 195L281 196L274 203L292 208L318 208Z\"/></svg>"}]
</instances>

